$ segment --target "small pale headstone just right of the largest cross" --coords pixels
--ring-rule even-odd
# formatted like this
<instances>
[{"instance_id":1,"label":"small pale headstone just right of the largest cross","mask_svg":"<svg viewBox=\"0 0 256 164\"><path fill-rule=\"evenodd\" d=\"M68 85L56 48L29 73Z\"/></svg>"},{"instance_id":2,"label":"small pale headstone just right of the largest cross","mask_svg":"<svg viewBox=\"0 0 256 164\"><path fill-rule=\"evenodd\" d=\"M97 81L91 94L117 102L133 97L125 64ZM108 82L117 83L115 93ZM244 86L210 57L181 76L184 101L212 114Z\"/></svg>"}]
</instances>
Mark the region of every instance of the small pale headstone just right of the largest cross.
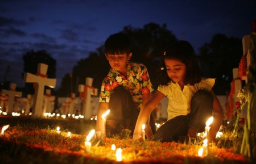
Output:
<instances>
[{"instance_id":1,"label":"small pale headstone just right of the largest cross","mask_svg":"<svg viewBox=\"0 0 256 164\"><path fill-rule=\"evenodd\" d=\"M46 90L46 95L44 95L44 110L43 113L52 113L54 108L55 96L51 95L51 90Z\"/></svg>"}]
</instances>

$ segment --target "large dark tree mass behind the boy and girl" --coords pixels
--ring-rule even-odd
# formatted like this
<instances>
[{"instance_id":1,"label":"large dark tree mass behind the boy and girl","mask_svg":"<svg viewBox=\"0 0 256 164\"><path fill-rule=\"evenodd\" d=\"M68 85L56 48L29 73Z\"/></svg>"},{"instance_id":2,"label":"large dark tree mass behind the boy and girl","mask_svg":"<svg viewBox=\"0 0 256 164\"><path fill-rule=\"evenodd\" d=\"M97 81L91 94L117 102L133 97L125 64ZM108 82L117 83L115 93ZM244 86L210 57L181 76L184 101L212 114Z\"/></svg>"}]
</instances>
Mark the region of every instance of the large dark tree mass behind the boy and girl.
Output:
<instances>
[{"instance_id":1,"label":"large dark tree mass behind the boy and girl","mask_svg":"<svg viewBox=\"0 0 256 164\"><path fill-rule=\"evenodd\" d=\"M175 35L167 29L166 24L160 26L155 23L148 23L143 28L133 28L126 26L121 31L130 37L133 43L133 56L131 61L141 62L147 66L150 74L151 82L156 89L157 74L156 70L160 70L159 60L163 55L164 48L176 41ZM88 58L84 58L77 62L72 71L72 88L77 90L77 84L85 83L85 77L93 78L93 86L100 90L101 82L109 72L109 64L105 58L104 46L102 45L96 52L91 52ZM59 96L67 96L70 94L71 78L64 77L58 91ZM65 82L64 82L65 81ZM67 89L69 88L69 89Z\"/></svg>"}]
</instances>

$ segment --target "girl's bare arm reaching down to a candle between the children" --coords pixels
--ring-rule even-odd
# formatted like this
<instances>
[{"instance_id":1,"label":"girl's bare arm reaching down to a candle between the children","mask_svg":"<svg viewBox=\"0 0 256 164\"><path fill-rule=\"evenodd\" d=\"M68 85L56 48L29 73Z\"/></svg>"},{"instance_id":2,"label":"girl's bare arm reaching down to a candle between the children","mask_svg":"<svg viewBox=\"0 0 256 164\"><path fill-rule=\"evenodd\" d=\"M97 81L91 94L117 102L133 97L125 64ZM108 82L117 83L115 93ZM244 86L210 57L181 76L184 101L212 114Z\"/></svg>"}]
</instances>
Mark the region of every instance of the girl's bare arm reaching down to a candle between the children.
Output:
<instances>
[{"instance_id":1,"label":"girl's bare arm reaching down to a candle between the children","mask_svg":"<svg viewBox=\"0 0 256 164\"><path fill-rule=\"evenodd\" d=\"M148 102L146 104L144 104L144 106L141 109L141 112L139 112L137 123L136 123L135 129L134 129L134 133L133 133L134 141L142 138L142 125L147 124L147 121L150 117L150 113L152 112L152 110L154 110L156 105L163 98L164 98L164 94L160 91L156 91L154 96L150 100L148 100Z\"/></svg>"}]
</instances>

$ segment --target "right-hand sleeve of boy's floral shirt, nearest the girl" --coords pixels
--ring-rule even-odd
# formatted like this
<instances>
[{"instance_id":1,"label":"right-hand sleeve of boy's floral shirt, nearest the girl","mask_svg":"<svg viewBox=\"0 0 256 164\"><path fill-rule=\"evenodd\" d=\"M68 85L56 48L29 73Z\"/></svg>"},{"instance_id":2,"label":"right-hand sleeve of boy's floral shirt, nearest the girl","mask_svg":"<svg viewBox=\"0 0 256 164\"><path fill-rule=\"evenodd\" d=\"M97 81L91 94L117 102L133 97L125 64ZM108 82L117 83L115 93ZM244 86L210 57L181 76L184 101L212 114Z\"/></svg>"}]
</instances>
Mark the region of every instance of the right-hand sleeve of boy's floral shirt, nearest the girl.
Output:
<instances>
[{"instance_id":1,"label":"right-hand sleeve of boy's floral shirt, nearest the girl","mask_svg":"<svg viewBox=\"0 0 256 164\"><path fill-rule=\"evenodd\" d=\"M152 83L150 81L150 77L147 72L147 68L144 65L141 66L141 79L142 79L141 92L143 95L154 91L152 87Z\"/></svg>"}]
</instances>

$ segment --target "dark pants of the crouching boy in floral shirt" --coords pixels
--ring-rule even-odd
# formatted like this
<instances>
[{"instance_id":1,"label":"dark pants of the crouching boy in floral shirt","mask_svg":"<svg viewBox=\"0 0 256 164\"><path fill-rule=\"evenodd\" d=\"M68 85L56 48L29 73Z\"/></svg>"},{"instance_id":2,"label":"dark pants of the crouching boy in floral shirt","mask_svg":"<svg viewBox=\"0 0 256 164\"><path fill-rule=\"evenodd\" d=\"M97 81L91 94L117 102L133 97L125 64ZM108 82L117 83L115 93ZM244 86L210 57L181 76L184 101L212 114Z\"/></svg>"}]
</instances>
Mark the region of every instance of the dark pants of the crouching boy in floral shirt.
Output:
<instances>
[{"instance_id":1,"label":"dark pants of the crouching boy in floral shirt","mask_svg":"<svg viewBox=\"0 0 256 164\"><path fill-rule=\"evenodd\" d=\"M130 92L123 87L115 88L110 96L109 109L110 113L107 118L107 131L110 131L110 133L119 133L122 129L130 129L132 135L138 119L139 110L136 107ZM114 128L108 126L108 120L114 120L116 122ZM150 127L154 133L155 120L152 115L150 115Z\"/></svg>"}]
</instances>

